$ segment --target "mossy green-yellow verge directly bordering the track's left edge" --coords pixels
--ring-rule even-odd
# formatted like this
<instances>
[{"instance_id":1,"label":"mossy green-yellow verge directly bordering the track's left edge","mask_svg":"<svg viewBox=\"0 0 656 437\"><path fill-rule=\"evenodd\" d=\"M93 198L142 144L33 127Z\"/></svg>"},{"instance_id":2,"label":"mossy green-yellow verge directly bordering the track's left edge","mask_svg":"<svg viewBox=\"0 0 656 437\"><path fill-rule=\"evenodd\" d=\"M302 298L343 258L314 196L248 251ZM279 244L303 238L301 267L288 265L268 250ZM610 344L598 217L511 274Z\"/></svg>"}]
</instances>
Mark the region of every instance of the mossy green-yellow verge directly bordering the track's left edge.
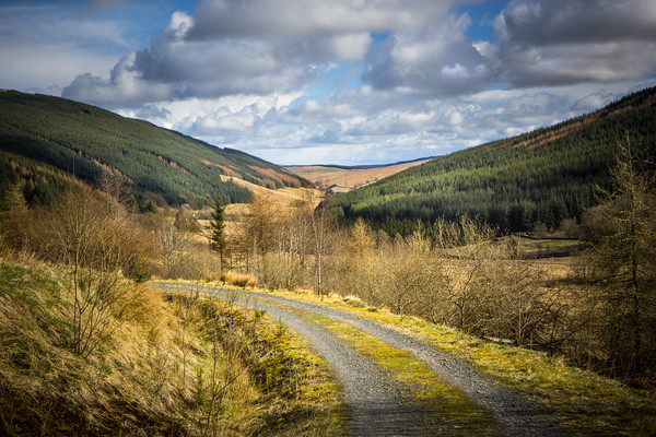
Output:
<instances>
[{"instance_id":1,"label":"mossy green-yellow verge directly bordering the track's left edge","mask_svg":"<svg viewBox=\"0 0 656 437\"><path fill-rule=\"evenodd\" d=\"M284 326L266 317L263 311L250 310L230 300L194 298L178 294L165 295L167 300L191 302L203 323L200 338L206 349L219 343L224 358L222 379L230 381L241 373L247 374L257 390L257 402L245 409L239 421L251 425L237 429L257 436L340 436L345 435L345 414L338 385L328 367L309 352L307 344L290 333ZM226 366L227 365L227 366ZM229 369L236 365L237 369ZM234 390L233 390L234 391ZM235 392L235 398L239 393Z\"/></svg>"}]
</instances>

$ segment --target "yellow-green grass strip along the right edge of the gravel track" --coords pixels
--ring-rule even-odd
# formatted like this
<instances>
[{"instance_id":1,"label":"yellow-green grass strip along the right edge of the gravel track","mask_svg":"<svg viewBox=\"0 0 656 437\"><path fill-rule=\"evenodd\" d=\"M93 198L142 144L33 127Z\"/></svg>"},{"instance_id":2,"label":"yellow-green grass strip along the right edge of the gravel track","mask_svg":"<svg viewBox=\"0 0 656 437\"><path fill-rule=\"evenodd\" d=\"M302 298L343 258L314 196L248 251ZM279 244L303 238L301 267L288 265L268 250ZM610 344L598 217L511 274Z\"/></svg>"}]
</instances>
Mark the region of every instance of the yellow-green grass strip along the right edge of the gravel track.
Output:
<instances>
[{"instance_id":1,"label":"yellow-green grass strip along the right edge of the gravel track","mask_svg":"<svg viewBox=\"0 0 656 437\"><path fill-rule=\"evenodd\" d=\"M558 356L485 342L417 317L401 317L386 308L371 307L358 297L335 294L319 297L309 291L267 293L351 311L422 339L453 353L504 386L534 398L551 409L564 426L577 435L656 435L656 393L653 390L634 389L612 378L567 366Z\"/></svg>"}]
</instances>

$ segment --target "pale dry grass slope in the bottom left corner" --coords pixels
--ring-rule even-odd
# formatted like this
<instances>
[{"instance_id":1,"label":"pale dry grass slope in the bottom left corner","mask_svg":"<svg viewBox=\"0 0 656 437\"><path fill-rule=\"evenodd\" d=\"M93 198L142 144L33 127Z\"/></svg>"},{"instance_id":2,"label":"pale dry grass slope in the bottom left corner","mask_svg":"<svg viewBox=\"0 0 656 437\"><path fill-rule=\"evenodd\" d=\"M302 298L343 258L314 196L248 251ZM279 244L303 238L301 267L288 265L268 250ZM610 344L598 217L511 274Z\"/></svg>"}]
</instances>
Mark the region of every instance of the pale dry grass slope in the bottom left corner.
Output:
<instances>
[{"instance_id":1,"label":"pale dry grass slope in the bottom left corner","mask_svg":"<svg viewBox=\"0 0 656 437\"><path fill-rule=\"evenodd\" d=\"M126 293L127 299L136 299L134 307L115 314L115 335L82 358L70 347L72 297L61 286L61 274L45 267L0 264L3 433L22 435L36 427L47 435L104 429L184 434L172 409L173 392L165 387L153 391L155 379L148 377L154 367L144 354L163 346L159 339L167 330L159 295L147 288Z\"/></svg>"}]
</instances>

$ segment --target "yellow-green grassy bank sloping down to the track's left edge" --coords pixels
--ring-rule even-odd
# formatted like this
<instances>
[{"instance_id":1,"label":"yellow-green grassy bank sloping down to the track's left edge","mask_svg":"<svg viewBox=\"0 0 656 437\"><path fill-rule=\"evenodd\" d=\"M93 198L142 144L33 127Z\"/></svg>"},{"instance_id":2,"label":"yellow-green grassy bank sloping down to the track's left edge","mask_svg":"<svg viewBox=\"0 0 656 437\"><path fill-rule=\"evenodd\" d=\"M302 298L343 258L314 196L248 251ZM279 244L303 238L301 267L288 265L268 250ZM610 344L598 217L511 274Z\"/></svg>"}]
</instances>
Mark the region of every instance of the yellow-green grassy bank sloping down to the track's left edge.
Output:
<instances>
[{"instance_id":1,"label":"yellow-green grassy bank sloping down to the track's left edge","mask_svg":"<svg viewBox=\"0 0 656 437\"><path fill-rule=\"evenodd\" d=\"M0 435L344 434L326 366L262 314L121 281L81 356L66 284L66 268L0 260Z\"/></svg>"}]
</instances>

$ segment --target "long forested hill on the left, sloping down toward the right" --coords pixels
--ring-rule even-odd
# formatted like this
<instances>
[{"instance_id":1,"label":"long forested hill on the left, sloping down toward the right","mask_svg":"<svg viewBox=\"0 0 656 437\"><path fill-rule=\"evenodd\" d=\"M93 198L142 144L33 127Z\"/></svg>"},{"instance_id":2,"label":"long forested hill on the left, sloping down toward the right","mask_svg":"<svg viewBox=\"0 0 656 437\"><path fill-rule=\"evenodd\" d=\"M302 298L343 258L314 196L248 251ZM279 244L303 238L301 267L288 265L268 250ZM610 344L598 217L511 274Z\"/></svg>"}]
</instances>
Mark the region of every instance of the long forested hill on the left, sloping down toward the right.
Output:
<instances>
[{"instance_id":1,"label":"long forested hill on the left, sloping down toward the right","mask_svg":"<svg viewBox=\"0 0 656 437\"><path fill-rule=\"evenodd\" d=\"M108 173L141 197L171 205L200 206L215 193L226 203L247 201L249 190L232 178L266 188L312 186L255 156L147 121L65 98L1 91L0 194L21 179L26 199L47 201L60 184L52 169L89 184Z\"/></svg>"}]
</instances>

